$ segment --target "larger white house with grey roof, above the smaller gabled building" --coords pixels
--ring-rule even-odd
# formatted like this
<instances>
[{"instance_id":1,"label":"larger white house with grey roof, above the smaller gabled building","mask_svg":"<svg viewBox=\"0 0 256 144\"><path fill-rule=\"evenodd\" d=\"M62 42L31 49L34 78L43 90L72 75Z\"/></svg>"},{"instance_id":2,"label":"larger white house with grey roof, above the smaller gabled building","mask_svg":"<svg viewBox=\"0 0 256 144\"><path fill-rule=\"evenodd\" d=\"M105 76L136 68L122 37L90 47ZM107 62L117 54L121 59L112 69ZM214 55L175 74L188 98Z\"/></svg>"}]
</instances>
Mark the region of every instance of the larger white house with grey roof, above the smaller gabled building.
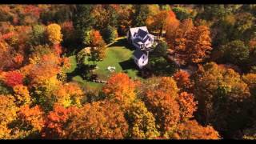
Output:
<instances>
[{"instance_id":1,"label":"larger white house with grey roof, above the smaller gabled building","mask_svg":"<svg viewBox=\"0 0 256 144\"><path fill-rule=\"evenodd\" d=\"M149 33L146 26L133 27L127 32L127 40L136 48L146 50L153 46L154 35Z\"/></svg>"}]
</instances>

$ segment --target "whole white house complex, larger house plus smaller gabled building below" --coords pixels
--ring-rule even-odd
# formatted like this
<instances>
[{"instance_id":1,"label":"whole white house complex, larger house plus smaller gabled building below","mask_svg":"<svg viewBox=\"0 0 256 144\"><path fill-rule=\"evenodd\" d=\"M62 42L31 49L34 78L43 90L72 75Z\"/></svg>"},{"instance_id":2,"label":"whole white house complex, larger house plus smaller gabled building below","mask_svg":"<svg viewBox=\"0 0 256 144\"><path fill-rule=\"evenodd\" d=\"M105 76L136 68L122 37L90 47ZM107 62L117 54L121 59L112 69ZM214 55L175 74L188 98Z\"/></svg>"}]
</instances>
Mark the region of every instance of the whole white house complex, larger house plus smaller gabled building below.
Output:
<instances>
[{"instance_id":1,"label":"whole white house complex, larger house plus smaller gabled building below","mask_svg":"<svg viewBox=\"0 0 256 144\"><path fill-rule=\"evenodd\" d=\"M149 33L146 26L133 27L127 32L127 40L136 47L134 62L142 69L149 61L149 50L154 44L154 35Z\"/></svg>"}]
</instances>

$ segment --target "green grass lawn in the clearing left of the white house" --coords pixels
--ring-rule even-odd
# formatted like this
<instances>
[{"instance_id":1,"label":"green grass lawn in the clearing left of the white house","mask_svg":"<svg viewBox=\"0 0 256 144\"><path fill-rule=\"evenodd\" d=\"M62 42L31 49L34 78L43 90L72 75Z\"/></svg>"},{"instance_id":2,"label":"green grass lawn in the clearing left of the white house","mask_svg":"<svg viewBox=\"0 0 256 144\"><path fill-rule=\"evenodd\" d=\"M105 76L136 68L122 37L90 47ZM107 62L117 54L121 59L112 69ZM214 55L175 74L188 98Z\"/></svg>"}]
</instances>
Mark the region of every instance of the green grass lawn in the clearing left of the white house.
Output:
<instances>
[{"instance_id":1,"label":"green grass lawn in the clearing left of the white house","mask_svg":"<svg viewBox=\"0 0 256 144\"><path fill-rule=\"evenodd\" d=\"M132 53L134 48L129 46L126 42L126 38L118 38L116 42L109 44L106 49L106 58L102 62L96 62L98 69L95 73L98 74L98 78L107 80L110 77L111 72L107 70L108 66L115 66L116 70L114 72L123 72L130 76L130 78L138 77L138 68L134 63ZM70 57L71 67L67 70L67 73L71 73L76 68L75 56ZM93 62L89 62L93 64ZM73 81L80 83L82 86L90 85L95 87L101 87L101 83L96 82L86 82L79 75L72 78Z\"/></svg>"}]
</instances>

